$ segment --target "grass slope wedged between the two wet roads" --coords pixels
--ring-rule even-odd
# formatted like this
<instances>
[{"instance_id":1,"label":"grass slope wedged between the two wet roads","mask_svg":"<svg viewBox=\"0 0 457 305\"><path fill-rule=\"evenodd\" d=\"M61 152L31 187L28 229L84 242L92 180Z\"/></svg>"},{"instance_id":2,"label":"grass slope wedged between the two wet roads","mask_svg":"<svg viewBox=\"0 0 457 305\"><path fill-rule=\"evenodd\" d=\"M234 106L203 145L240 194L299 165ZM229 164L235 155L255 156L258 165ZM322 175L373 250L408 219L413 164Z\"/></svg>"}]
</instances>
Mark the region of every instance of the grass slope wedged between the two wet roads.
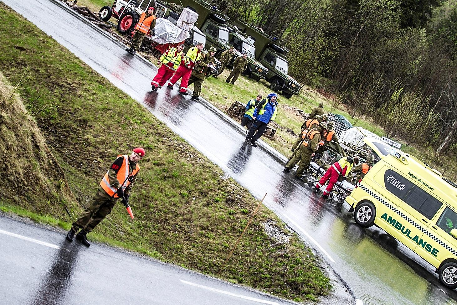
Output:
<instances>
[{"instance_id":1,"label":"grass slope wedged between the two wet roads","mask_svg":"<svg viewBox=\"0 0 457 305\"><path fill-rule=\"evenodd\" d=\"M11 189L1 198L1 209L69 229L71 220L62 203L75 218L116 155L141 145L147 155L130 199L135 219L117 205L88 236L217 274L255 210L255 198L234 180L222 178L220 168L165 124L3 4L0 19L0 70L17 85L58 161L51 170L63 168L60 177L64 175L74 194L65 201L37 190L43 196L30 201L19 191L22 184L7 179L16 170L11 168L0 172L2 188ZM25 153L12 151L13 146L0 148L13 159ZM22 162L29 160L24 156ZM287 241L269 237L267 223L276 224ZM261 206L219 277L289 299L314 299L330 289L318 263L310 249Z\"/></svg>"}]
</instances>

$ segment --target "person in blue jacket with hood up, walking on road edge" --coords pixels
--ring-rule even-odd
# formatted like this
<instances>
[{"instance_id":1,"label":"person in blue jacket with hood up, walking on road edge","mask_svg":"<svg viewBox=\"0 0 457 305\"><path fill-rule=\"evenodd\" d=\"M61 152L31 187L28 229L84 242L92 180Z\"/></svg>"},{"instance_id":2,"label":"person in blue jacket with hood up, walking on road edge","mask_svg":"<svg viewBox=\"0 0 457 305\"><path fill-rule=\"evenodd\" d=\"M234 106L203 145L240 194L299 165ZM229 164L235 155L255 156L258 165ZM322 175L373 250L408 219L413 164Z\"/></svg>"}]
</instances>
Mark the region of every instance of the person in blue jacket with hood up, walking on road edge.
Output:
<instances>
[{"instance_id":1,"label":"person in blue jacket with hood up, walking on road edge","mask_svg":"<svg viewBox=\"0 0 457 305\"><path fill-rule=\"evenodd\" d=\"M252 116L254 123L252 123L244 142L249 143L254 147L257 146L255 141L263 134L268 123L276 119L276 112L278 110L277 99L278 95L276 93L270 93L266 98L260 101L257 107L255 107L254 115Z\"/></svg>"}]
</instances>

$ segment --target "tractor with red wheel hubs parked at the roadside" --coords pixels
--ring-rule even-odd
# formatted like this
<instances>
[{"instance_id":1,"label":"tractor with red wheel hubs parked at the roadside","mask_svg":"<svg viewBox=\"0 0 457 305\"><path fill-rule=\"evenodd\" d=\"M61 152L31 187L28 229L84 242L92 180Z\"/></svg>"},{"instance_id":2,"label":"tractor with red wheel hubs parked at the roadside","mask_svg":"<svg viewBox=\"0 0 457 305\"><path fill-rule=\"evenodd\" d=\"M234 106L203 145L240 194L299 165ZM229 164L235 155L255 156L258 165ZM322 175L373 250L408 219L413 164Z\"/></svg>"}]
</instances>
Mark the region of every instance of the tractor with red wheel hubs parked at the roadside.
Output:
<instances>
[{"instance_id":1,"label":"tractor with red wheel hubs parked at the roadside","mask_svg":"<svg viewBox=\"0 0 457 305\"><path fill-rule=\"evenodd\" d=\"M111 7L106 5L100 9L100 19L108 21L114 17L117 20L117 30L128 33L134 29L141 14L151 6L157 8L157 2L155 0L116 0ZM161 13L160 8L154 11L154 15L158 18L161 17Z\"/></svg>"}]
</instances>

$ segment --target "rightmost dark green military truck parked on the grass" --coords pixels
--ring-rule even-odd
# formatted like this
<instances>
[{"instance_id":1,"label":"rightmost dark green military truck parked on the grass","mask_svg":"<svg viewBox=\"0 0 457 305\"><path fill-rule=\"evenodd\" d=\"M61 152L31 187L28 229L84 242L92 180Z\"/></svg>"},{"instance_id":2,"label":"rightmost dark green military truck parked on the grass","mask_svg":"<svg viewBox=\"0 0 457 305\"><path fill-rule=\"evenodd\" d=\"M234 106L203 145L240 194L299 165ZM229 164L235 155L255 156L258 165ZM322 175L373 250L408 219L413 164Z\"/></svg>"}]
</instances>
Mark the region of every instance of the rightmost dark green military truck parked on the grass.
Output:
<instances>
[{"instance_id":1,"label":"rightmost dark green military truck parked on the grass","mask_svg":"<svg viewBox=\"0 0 457 305\"><path fill-rule=\"evenodd\" d=\"M248 37L250 43L256 46L255 58L268 69L266 80L270 83L271 90L282 91L282 95L287 98L298 94L301 85L287 75L288 50L279 46L275 43L275 39L254 26L240 21L234 21L233 24Z\"/></svg>"}]
</instances>

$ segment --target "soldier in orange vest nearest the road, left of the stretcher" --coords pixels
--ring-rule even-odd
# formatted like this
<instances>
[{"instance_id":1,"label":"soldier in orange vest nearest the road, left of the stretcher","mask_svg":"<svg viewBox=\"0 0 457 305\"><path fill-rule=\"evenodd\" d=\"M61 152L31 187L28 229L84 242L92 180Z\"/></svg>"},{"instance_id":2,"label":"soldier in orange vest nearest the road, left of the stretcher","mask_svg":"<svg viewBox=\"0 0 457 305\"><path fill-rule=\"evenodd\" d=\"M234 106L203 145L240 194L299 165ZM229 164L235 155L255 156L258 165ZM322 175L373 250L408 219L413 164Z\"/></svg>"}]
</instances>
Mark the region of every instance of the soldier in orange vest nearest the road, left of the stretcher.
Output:
<instances>
[{"instance_id":1,"label":"soldier in orange vest nearest the road, left of the stretcher","mask_svg":"<svg viewBox=\"0 0 457 305\"><path fill-rule=\"evenodd\" d=\"M300 180L303 179L303 174L309 164L309 161L311 160L311 156L319 148L321 136L324 134L326 129L327 123L322 122L319 123L316 128L310 130L308 134L306 134L306 138L304 139L303 143L296 150L296 153L292 159L287 162L286 166L284 167L285 172L290 172L295 164L300 161L300 164L298 164L297 172L295 173L295 177Z\"/></svg>"}]
</instances>

